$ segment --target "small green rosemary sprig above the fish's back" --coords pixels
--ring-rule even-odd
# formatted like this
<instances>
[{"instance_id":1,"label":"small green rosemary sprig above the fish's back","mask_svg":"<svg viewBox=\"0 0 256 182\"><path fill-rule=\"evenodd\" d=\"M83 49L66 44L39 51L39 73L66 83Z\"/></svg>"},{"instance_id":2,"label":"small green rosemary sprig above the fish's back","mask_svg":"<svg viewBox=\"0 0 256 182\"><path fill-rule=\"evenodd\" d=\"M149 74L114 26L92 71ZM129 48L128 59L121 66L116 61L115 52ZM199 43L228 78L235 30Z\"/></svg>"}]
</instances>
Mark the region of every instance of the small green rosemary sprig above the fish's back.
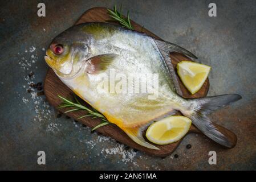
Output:
<instances>
[{"instance_id":1,"label":"small green rosemary sprig above the fish's back","mask_svg":"<svg viewBox=\"0 0 256 182\"><path fill-rule=\"evenodd\" d=\"M108 10L109 16L117 20L117 22L119 22L124 27L129 28L130 30L133 30L133 27L129 18L129 11L127 11L127 18L124 18L121 14L122 6L120 6L119 11L116 10L116 5L113 7L113 10L109 10L109 9L107 10Z\"/></svg>"}]
</instances>

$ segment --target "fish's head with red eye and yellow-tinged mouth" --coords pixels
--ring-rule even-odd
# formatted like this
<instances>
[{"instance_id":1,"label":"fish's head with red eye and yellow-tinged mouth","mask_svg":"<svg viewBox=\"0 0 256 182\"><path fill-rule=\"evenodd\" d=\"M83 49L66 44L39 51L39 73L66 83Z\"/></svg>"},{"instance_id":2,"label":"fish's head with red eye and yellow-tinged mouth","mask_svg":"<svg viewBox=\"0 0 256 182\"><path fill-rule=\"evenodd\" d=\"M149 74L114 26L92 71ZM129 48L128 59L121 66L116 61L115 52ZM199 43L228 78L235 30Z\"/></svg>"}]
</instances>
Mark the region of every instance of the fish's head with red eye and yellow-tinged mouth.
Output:
<instances>
[{"instance_id":1,"label":"fish's head with red eye and yellow-tinged mouth","mask_svg":"<svg viewBox=\"0 0 256 182\"><path fill-rule=\"evenodd\" d=\"M72 77L80 71L89 56L88 41L74 31L64 31L52 40L44 60L60 77Z\"/></svg>"}]
</instances>

